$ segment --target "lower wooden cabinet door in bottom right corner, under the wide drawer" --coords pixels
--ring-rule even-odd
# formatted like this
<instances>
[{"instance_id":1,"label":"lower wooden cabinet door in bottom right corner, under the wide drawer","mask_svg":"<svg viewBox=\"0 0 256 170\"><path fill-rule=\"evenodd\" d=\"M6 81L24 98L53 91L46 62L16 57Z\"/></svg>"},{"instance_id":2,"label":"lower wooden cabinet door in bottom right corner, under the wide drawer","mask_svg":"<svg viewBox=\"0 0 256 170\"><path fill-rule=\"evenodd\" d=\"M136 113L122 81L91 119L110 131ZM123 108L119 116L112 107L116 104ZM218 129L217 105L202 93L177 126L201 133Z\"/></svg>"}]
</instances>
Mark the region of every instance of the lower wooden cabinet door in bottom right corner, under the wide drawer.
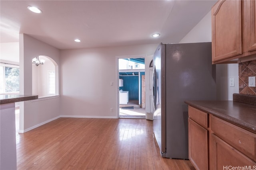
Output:
<instances>
[{"instance_id":1,"label":"lower wooden cabinet door in bottom right corner, under the wide drawer","mask_svg":"<svg viewBox=\"0 0 256 170\"><path fill-rule=\"evenodd\" d=\"M232 167L238 166L250 167L249 170L256 168L256 162L252 161L214 134L212 134L212 158L213 170L232 169Z\"/></svg>"}]
</instances>

